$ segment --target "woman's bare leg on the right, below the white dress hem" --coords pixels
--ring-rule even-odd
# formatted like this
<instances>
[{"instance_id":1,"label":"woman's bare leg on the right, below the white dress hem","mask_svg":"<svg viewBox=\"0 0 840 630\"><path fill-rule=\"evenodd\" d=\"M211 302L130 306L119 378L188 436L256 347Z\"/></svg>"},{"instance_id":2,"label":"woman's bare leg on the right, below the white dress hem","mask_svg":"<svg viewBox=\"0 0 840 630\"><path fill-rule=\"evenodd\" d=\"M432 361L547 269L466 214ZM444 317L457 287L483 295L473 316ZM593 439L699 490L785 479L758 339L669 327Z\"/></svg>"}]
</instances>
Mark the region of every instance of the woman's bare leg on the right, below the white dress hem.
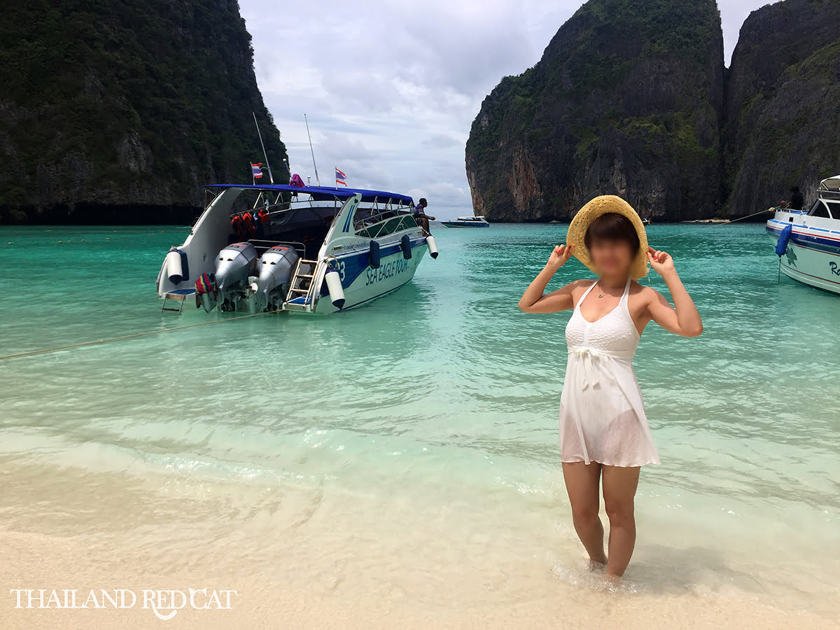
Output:
<instances>
[{"instance_id":1,"label":"woman's bare leg on the right, below the white dress hem","mask_svg":"<svg viewBox=\"0 0 840 630\"><path fill-rule=\"evenodd\" d=\"M621 577L636 544L636 519L633 515L633 499L638 487L638 466L602 466L604 488L604 510L610 519L610 539L607 543L609 560L606 575Z\"/></svg>"}]
</instances>

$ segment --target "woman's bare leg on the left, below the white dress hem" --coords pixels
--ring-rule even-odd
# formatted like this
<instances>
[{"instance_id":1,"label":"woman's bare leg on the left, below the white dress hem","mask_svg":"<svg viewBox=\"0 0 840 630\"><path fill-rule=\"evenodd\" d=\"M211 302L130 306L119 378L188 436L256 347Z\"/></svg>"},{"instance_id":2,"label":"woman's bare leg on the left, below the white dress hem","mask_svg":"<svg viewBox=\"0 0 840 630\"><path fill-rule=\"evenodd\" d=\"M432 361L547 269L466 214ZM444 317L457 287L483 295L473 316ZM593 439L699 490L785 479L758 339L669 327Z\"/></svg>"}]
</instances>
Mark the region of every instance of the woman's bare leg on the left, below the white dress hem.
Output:
<instances>
[{"instance_id":1,"label":"woman's bare leg on the left, below the white dress hem","mask_svg":"<svg viewBox=\"0 0 840 630\"><path fill-rule=\"evenodd\" d=\"M598 518L601 496L598 481L601 479L601 465L597 462L584 464L582 461L563 463L563 480L572 506L572 520L580 542L589 554L589 559L606 564L604 554L604 526Z\"/></svg>"}]
</instances>

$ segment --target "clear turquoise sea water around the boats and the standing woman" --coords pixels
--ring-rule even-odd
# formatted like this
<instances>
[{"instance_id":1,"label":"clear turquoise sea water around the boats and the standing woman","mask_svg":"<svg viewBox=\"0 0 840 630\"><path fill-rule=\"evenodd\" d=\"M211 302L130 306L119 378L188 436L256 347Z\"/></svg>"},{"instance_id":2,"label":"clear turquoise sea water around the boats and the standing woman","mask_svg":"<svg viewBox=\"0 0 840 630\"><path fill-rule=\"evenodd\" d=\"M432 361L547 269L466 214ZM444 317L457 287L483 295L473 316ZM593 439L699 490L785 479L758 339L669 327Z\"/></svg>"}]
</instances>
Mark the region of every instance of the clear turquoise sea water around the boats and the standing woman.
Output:
<instances>
[{"instance_id":1,"label":"clear turquoise sea water around the boats and the standing woman","mask_svg":"<svg viewBox=\"0 0 840 630\"><path fill-rule=\"evenodd\" d=\"M177 475L204 495L232 483L243 496L318 488L351 497L351 515L394 496L463 505L478 516L450 523L452 547L491 518L504 538L511 515L510 537L544 544L546 569L574 581L581 552L556 427L569 313L516 307L564 230L438 227L441 255L412 283L334 316L263 315L2 360L0 457L8 470ZM187 231L3 228L0 355L222 318L160 313L155 276ZM639 346L663 463L643 470L628 578L679 575L685 590L732 586L836 611L840 570L824 559L840 544L840 297L778 281L762 225L648 234L675 256L706 332L651 325ZM554 284L588 276L573 260ZM88 522L70 511L35 525L24 514L37 509L15 501L0 506L15 528Z\"/></svg>"}]
</instances>

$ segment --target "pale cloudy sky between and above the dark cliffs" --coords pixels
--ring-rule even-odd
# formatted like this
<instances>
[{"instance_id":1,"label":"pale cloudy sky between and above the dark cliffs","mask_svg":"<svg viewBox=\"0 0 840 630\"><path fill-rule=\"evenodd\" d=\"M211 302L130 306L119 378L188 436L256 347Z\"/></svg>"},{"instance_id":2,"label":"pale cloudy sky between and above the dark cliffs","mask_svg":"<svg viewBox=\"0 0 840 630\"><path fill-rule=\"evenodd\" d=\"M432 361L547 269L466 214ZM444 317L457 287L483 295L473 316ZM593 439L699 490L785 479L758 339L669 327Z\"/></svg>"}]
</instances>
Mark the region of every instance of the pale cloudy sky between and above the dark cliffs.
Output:
<instances>
[{"instance_id":1,"label":"pale cloudy sky between and above the dark cliffs","mask_svg":"<svg viewBox=\"0 0 840 630\"><path fill-rule=\"evenodd\" d=\"M333 168L350 186L428 197L438 218L471 213L464 145L502 76L533 66L580 0L239 0L265 104L291 171ZM727 63L749 12L719 0Z\"/></svg>"}]
</instances>

